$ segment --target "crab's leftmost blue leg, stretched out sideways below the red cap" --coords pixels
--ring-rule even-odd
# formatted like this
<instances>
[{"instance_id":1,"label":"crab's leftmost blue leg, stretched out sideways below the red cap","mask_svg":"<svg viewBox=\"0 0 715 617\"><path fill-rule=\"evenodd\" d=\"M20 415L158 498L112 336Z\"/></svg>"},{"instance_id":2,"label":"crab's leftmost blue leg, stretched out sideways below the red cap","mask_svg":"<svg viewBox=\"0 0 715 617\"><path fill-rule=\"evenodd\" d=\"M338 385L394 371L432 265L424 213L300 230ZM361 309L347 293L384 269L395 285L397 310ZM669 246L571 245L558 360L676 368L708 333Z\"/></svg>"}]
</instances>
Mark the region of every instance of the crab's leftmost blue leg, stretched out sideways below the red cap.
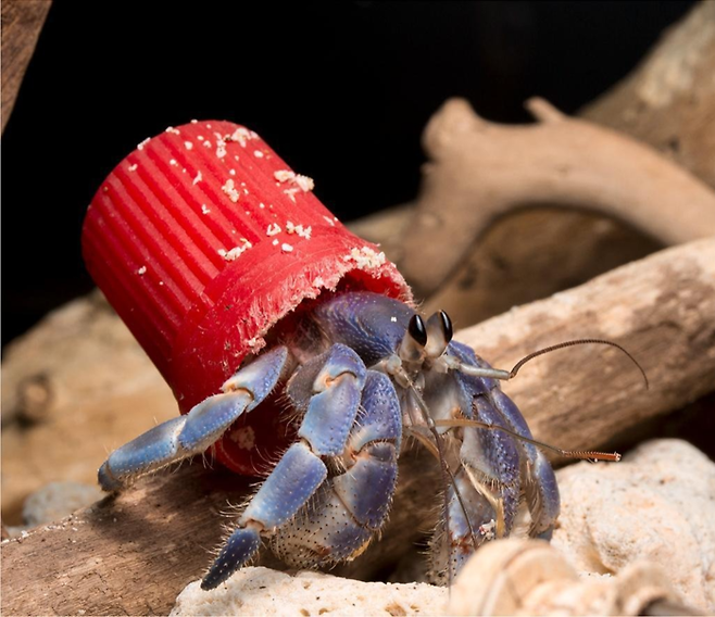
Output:
<instances>
[{"instance_id":1,"label":"crab's leftmost blue leg, stretched out sideways below the red cap","mask_svg":"<svg viewBox=\"0 0 715 617\"><path fill-rule=\"evenodd\" d=\"M223 385L222 394L209 396L187 415L160 424L115 450L99 469L102 489L121 489L139 476L208 450L241 414L271 393L287 362L285 347L259 356Z\"/></svg>"}]
</instances>

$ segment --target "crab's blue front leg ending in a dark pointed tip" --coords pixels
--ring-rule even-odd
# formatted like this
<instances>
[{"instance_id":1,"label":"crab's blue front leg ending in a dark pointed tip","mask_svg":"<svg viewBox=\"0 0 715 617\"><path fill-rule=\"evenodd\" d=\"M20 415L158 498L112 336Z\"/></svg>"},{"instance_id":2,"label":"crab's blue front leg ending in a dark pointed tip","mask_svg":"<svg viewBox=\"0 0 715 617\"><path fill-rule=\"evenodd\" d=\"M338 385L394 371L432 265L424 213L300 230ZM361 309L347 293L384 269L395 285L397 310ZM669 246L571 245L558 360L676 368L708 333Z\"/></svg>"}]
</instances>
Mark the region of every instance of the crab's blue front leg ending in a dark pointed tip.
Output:
<instances>
[{"instance_id":1,"label":"crab's blue front leg ending in a dark pointed tip","mask_svg":"<svg viewBox=\"0 0 715 617\"><path fill-rule=\"evenodd\" d=\"M238 528L201 581L214 589L255 555L261 534L272 536L293 518L327 477L322 457L342 454L360 406L365 365L336 343L305 363L288 383L288 395L305 417L293 443L238 520Z\"/></svg>"}]
</instances>

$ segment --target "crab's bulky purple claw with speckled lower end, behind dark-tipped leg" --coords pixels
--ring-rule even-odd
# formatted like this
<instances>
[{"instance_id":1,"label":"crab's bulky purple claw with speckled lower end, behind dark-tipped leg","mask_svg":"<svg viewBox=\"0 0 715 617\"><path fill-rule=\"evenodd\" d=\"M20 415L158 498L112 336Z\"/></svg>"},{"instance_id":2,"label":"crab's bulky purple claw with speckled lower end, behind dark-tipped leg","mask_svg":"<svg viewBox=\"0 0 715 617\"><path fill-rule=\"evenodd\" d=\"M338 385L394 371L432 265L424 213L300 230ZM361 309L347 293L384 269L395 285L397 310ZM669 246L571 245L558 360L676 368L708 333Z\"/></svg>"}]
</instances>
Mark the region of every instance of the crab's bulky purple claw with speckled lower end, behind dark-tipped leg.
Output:
<instances>
[{"instance_id":1,"label":"crab's bulky purple claw with speckled lower end, behind dark-tipped leg","mask_svg":"<svg viewBox=\"0 0 715 617\"><path fill-rule=\"evenodd\" d=\"M402 417L397 392L382 373L367 372L361 410L344 454L344 470L326 481L272 539L287 564L330 566L360 555L388 516L398 476Z\"/></svg>"}]
</instances>

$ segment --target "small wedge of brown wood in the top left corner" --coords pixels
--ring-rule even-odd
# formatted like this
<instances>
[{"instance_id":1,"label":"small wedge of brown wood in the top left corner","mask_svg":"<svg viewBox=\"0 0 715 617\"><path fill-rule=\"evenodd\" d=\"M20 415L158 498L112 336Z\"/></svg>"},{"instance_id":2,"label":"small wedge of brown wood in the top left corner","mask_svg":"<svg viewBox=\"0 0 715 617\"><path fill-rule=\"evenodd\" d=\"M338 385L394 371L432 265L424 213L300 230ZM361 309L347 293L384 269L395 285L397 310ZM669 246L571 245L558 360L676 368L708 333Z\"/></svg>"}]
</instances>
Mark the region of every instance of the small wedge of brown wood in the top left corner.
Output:
<instances>
[{"instance_id":1,"label":"small wedge of brown wood in the top left corner","mask_svg":"<svg viewBox=\"0 0 715 617\"><path fill-rule=\"evenodd\" d=\"M2 130L15 106L51 4L52 0L4 0L2 3Z\"/></svg>"}]
</instances>

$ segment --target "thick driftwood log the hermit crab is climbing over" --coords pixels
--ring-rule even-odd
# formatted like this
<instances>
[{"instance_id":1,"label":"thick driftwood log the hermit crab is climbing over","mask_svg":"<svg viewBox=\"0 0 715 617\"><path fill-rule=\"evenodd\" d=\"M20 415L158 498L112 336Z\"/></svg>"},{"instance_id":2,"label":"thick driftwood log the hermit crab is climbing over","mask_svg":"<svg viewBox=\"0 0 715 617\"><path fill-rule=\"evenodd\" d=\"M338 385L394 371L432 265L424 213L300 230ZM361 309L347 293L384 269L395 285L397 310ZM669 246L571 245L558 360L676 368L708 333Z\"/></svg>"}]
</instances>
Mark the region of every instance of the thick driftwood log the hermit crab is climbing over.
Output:
<instances>
[{"instance_id":1,"label":"thick driftwood log the hermit crab is climbing over","mask_svg":"<svg viewBox=\"0 0 715 617\"><path fill-rule=\"evenodd\" d=\"M629 349L648 372L651 389L625 357L606 348L547 355L505 387L539 439L594 448L712 390L715 240L666 250L457 338L510 367L539 347L585 336ZM401 493L382 543L344 574L373 576L396 558L394 546L406 550L428 529L437 490L425 487L439 486L437 466L418 454L401 463ZM219 514L226 501L240 502L247 490L244 479L193 465L142 480L72 519L4 543L2 613L167 613L180 589L211 561L209 551L227 522Z\"/></svg>"}]
</instances>

